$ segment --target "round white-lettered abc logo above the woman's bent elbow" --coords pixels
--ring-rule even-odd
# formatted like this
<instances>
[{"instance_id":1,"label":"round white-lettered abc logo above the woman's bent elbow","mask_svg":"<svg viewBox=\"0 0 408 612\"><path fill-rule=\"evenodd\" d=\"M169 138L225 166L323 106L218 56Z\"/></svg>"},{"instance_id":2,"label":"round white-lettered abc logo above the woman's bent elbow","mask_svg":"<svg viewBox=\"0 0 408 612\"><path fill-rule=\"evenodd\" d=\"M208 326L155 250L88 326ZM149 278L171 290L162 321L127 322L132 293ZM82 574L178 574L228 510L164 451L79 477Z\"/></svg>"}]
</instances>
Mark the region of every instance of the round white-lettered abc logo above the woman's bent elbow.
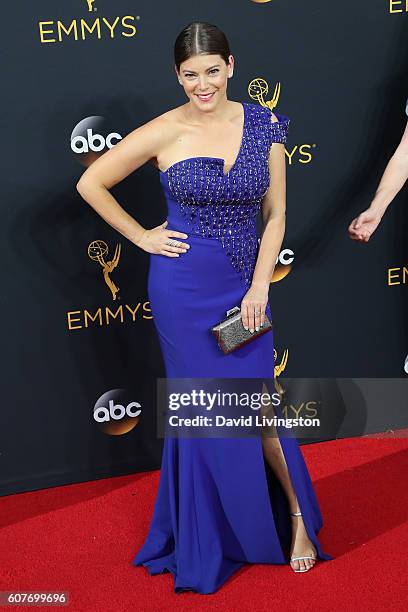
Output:
<instances>
[{"instance_id":1,"label":"round white-lettered abc logo above the woman's bent elbow","mask_svg":"<svg viewBox=\"0 0 408 612\"><path fill-rule=\"evenodd\" d=\"M88 167L120 140L122 136L110 130L104 117L95 116L86 117L75 126L70 143L80 163Z\"/></svg>"}]
</instances>

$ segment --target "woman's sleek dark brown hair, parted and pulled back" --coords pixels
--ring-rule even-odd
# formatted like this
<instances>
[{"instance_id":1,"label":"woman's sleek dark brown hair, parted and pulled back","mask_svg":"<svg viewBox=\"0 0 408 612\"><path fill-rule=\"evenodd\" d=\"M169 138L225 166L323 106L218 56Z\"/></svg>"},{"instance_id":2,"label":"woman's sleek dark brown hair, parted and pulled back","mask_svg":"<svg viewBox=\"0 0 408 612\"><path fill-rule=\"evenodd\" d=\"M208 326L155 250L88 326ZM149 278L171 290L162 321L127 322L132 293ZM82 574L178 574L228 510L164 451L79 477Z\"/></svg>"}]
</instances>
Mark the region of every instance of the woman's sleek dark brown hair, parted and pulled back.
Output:
<instances>
[{"instance_id":1,"label":"woman's sleek dark brown hair, parted and pulled back","mask_svg":"<svg viewBox=\"0 0 408 612\"><path fill-rule=\"evenodd\" d=\"M174 63L177 70L180 64L194 55L221 55L226 64L230 56L230 46L217 26L205 21L189 23L177 36L174 43Z\"/></svg>"}]
</instances>

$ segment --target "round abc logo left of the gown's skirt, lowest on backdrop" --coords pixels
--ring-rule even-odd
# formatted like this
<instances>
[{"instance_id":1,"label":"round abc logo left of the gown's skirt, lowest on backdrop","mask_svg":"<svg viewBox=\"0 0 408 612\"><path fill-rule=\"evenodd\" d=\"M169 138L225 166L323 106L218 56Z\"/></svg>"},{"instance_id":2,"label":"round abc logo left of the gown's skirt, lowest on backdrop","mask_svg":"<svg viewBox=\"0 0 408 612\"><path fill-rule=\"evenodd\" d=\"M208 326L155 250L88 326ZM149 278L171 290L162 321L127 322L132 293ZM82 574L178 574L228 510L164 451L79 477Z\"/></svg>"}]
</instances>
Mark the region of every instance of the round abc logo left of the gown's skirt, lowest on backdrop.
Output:
<instances>
[{"instance_id":1,"label":"round abc logo left of the gown's skirt, lowest on backdrop","mask_svg":"<svg viewBox=\"0 0 408 612\"><path fill-rule=\"evenodd\" d=\"M93 418L99 429L111 436L131 431L139 423L141 405L125 389L107 391L94 406Z\"/></svg>"}]
</instances>

